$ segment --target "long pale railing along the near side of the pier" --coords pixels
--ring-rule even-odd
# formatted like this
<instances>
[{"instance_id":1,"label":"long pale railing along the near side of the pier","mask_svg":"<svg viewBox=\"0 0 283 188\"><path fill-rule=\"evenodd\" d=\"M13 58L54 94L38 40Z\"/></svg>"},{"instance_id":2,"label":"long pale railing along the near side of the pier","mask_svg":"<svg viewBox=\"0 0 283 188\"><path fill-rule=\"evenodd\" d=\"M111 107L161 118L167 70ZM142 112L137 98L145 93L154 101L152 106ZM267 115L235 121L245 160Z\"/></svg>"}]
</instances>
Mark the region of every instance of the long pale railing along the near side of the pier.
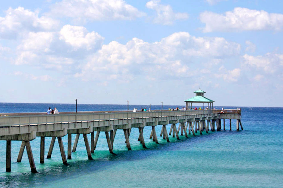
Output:
<instances>
[{"instance_id":1,"label":"long pale railing along the near side of the pier","mask_svg":"<svg viewBox=\"0 0 283 188\"><path fill-rule=\"evenodd\" d=\"M151 110L147 112L127 112L127 111L91 111L91 112L61 112L59 114L46 113L6 113L0 117L0 127L20 126L20 125L40 125L56 123L74 123L107 121L121 119L139 119L153 117L187 116L201 114L217 114L220 110ZM239 111L227 111L227 113L239 113ZM0 114L1 115L1 114Z\"/></svg>"}]
</instances>

